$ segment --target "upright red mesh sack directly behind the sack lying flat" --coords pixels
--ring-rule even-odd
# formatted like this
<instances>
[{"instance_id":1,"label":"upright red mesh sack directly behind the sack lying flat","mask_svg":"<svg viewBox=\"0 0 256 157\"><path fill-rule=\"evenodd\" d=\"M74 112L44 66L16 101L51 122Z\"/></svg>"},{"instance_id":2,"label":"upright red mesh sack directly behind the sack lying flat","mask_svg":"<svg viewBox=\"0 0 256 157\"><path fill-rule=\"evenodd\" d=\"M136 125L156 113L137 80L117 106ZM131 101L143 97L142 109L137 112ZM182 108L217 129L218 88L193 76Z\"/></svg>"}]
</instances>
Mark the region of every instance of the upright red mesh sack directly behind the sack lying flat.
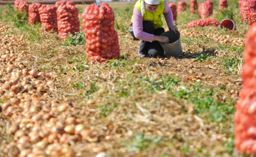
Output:
<instances>
[{"instance_id":1,"label":"upright red mesh sack directly behind the sack lying flat","mask_svg":"<svg viewBox=\"0 0 256 157\"><path fill-rule=\"evenodd\" d=\"M212 15L213 3L211 0L204 1L199 5L198 13L200 17L209 17Z\"/></svg>"}]
</instances>

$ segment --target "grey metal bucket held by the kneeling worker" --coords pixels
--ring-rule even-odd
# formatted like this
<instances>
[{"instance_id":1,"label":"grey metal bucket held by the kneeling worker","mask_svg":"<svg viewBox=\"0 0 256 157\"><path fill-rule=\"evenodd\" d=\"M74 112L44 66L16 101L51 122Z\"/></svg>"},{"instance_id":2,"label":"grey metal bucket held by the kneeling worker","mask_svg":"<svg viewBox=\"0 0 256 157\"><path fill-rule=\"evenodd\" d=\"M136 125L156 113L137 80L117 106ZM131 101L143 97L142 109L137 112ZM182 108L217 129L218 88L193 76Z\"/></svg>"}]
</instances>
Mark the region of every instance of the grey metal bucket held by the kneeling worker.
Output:
<instances>
[{"instance_id":1,"label":"grey metal bucket held by the kneeling worker","mask_svg":"<svg viewBox=\"0 0 256 157\"><path fill-rule=\"evenodd\" d=\"M167 36L169 38L169 41L171 42L170 44L159 42L168 57L177 57L183 53L181 47L181 37L179 32L177 32L176 34L173 31L166 31L161 35Z\"/></svg>"}]
</instances>

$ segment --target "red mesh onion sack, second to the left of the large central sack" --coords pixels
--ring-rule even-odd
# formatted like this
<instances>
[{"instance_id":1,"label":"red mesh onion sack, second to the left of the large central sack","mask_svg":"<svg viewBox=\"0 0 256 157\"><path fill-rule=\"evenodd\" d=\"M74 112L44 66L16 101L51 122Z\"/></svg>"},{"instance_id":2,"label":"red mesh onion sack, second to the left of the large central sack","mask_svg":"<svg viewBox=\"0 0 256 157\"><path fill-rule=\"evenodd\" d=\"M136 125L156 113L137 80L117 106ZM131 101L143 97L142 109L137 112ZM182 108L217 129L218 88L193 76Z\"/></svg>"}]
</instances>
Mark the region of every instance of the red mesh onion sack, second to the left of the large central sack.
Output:
<instances>
[{"instance_id":1,"label":"red mesh onion sack, second to the left of the large central sack","mask_svg":"<svg viewBox=\"0 0 256 157\"><path fill-rule=\"evenodd\" d=\"M40 30L57 31L57 8L54 5L42 5L38 11L42 23Z\"/></svg>"}]
</instances>

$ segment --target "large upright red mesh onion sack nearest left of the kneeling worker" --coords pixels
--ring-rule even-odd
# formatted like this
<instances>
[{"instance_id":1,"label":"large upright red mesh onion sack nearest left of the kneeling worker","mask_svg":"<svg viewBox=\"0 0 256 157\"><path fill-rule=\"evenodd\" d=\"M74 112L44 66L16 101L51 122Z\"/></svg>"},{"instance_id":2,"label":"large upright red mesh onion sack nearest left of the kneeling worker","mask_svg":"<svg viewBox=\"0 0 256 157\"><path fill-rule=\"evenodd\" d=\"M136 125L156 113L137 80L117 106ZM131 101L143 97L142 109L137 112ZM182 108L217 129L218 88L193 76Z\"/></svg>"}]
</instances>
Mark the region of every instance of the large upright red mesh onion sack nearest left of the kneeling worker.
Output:
<instances>
[{"instance_id":1,"label":"large upright red mesh onion sack nearest left of the kneeling worker","mask_svg":"<svg viewBox=\"0 0 256 157\"><path fill-rule=\"evenodd\" d=\"M115 14L107 3L88 5L84 9L83 28L89 61L104 62L120 57Z\"/></svg>"}]
</instances>

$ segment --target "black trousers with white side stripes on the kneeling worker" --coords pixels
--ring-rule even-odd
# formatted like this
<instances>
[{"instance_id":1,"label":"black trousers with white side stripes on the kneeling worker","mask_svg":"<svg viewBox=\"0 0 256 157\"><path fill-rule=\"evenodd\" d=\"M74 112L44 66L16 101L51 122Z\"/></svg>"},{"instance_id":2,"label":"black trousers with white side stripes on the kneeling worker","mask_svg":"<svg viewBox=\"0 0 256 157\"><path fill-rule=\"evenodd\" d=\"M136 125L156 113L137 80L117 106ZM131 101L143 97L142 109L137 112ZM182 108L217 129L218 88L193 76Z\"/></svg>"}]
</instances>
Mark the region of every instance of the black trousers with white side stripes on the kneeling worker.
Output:
<instances>
[{"instance_id":1,"label":"black trousers with white side stripes on the kneeling worker","mask_svg":"<svg viewBox=\"0 0 256 157\"><path fill-rule=\"evenodd\" d=\"M130 26L129 31L135 40L139 40L134 36L132 25ZM164 28L160 27L160 28L154 29L154 25L152 22L143 21L143 31L153 35L160 35L161 33L164 32ZM163 52L162 46L159 44L158 41L153 41L152 43L150 43L148 41L140 40L138 55L140 56L141 54L149 55L150 57L156 58L158 56L162 57L164 52Z\"/></svg>"}]
</instances>

